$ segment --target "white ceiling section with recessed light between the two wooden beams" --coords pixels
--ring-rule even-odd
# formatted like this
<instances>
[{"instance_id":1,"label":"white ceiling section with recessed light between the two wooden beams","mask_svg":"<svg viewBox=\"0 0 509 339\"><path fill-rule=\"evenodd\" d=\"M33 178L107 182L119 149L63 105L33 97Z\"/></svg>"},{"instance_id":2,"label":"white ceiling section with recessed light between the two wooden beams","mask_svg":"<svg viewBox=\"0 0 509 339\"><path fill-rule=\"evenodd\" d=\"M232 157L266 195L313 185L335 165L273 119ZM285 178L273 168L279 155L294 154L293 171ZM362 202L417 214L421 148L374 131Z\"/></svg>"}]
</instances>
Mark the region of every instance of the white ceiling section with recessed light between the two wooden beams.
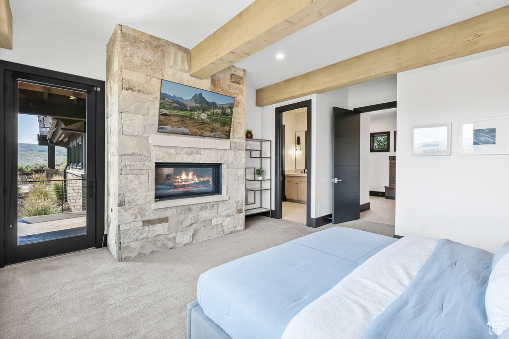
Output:
<instances>
[{"instance_id":1,"label":"white ceiling section with recessed light between the two wooden beams","mask_svg":"<svg viewBox=\"0 0 509 339\"><path fill-rule=\"evenodd\" d=\"M358 0L239 61L261 88L509 5L509 0ZM285 55L276 59L276 54Z\"/></svg>"}]
</instances>

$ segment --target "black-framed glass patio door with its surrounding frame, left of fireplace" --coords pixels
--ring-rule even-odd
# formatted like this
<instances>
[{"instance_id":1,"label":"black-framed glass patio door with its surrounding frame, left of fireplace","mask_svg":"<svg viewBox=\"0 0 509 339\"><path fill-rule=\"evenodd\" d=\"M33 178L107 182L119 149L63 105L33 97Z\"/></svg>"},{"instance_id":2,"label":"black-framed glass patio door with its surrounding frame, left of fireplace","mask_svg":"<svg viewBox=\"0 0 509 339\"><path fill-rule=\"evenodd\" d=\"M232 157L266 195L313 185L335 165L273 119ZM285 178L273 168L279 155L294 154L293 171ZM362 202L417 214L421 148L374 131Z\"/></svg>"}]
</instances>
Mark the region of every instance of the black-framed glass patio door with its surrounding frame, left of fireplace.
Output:
<instances>
[{"instance_id":1,"label":"black-framed glass patio door with its surrounding frame, left of fireplace","mask_svg":"<svg viewBox=\"0 0 509 339\"><path fill-rule=\"evenodd\" d=\"M100 248L104 82L14 63L0 66L5 83L0 267Z\"/></svg>"}]
</instances>

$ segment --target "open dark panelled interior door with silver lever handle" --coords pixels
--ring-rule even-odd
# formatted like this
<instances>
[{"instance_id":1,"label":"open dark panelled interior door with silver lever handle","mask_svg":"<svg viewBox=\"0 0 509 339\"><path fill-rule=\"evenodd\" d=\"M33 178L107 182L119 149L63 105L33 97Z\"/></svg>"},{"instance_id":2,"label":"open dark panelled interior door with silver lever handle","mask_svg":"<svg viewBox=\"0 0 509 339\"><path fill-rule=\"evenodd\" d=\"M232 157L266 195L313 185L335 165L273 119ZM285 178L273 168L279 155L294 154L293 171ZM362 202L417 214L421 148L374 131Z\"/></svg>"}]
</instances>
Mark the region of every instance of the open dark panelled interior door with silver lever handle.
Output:
<instances>
[{"instance_id":1,"label":"open dark panelled interior door with silver lever handle","mask_svg":"<svg viewBox=\"0 0 509 339\"><path fill-rule=\"evenodd\" d=\"M333 107L332 224L360 218L360 114Z\"/></svg>"}]
</instances>

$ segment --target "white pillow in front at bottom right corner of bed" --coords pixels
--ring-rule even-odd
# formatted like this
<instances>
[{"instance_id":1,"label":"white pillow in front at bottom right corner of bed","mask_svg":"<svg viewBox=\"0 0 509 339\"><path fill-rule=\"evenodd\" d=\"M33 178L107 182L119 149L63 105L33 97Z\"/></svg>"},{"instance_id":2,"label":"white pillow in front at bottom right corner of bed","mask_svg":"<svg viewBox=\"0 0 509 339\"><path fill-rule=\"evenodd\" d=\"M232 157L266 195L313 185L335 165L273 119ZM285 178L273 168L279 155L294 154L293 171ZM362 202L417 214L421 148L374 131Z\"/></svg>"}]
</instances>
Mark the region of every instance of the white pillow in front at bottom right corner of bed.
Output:
<instances>
[{"instance_id":1,"label":"white pillow in front at bottom right corner of bed","mask_svg":"<svg viewBox=\"0 0 509 339\"><path fill-rule=\"evenodd\" d=\"M509 288L507 286L509 286L509 254L505 254L493 265L486 289L488 323L495 319L495 322L503 323L501 328L498 328L498 334L509 328Z\"/></svg>"}]
</instances>

